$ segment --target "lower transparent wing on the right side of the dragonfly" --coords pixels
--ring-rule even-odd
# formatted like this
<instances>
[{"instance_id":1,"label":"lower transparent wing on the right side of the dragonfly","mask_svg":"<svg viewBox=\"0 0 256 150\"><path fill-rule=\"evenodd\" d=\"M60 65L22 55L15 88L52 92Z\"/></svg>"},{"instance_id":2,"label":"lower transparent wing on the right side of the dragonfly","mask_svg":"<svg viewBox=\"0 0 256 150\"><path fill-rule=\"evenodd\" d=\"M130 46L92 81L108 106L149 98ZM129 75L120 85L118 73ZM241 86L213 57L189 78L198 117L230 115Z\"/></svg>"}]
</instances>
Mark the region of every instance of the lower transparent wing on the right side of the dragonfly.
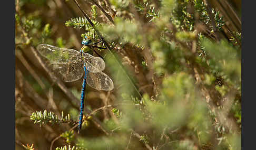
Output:
<instances>
[{"instance_id":1,"label":"lower transparent wing on the right side of the dragonfly","mask_svg":"<svg viewBox=\"0 0 256 150\"><path fill-rule=\"evenodd\" d=\"M113 81L102 71L95 73L89 71L86 76L86 82L90 87L96 90L110 91L114 89Z\"/></svg>"}]
</instances>

